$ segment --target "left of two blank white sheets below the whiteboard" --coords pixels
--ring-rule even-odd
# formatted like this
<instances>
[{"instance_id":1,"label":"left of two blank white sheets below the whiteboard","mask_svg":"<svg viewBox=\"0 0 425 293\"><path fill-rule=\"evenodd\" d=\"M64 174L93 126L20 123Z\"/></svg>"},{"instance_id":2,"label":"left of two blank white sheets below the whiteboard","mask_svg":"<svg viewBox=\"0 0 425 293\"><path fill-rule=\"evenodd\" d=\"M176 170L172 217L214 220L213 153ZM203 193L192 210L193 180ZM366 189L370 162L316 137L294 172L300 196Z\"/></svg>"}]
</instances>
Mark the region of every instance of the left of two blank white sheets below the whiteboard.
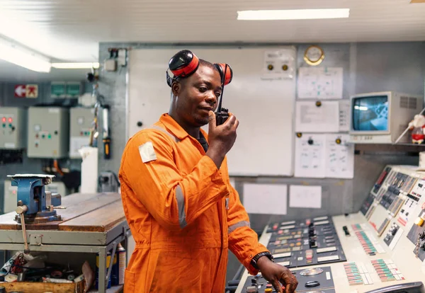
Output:
<instances>
[{"instance_id":1,"label":"left of two blank white sheets below the whiteboard","mask_svg":"<svg viewBox=\"0 0 425 293\"><path fill-rule=\"evenodd\" d=\"M243 201L250 214L286 214L288 186L245 183Z\"/></svg>"}]
</instances>

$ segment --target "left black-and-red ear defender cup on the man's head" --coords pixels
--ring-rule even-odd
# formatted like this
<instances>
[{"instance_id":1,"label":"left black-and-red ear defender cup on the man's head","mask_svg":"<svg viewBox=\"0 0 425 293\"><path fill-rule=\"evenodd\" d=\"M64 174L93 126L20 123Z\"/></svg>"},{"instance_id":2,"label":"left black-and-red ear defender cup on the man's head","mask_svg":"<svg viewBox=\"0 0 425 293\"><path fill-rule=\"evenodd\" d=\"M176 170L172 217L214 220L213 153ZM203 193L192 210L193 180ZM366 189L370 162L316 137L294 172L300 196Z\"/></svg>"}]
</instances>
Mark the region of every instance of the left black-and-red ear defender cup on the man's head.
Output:
<instances>
[{"instance_id":1,"label":"left black-and-red ear defender cup on the man's head","mask_svg":"<svg viewBox=\"0 0 425 293\"><path fill-rule=\"evenodd\" d=\"M193 54L189 50L181 50L171 57L169 61L169 69L174 76L171 78L167 70L166 83L171 87L173 79L176 79L177 77L191 76L198 67L199 59L196 57L196 54Z\"/></svg>"}]
</instances>

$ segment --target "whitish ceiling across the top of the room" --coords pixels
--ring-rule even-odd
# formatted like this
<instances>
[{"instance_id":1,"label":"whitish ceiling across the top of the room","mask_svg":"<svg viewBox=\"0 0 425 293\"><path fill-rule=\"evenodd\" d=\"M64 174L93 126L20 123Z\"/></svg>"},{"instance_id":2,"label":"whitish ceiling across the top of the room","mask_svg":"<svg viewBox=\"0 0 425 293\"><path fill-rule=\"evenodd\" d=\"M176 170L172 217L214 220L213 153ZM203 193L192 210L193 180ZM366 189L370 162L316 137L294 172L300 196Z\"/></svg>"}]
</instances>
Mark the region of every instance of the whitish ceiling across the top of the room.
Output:
<instances>
[{"instance_id":1,"label":"whitish ceiling across the top of the room","mask_svg":"<svg viewBox=\"0 0 425 293\"><path fill-rule=\"evenodd\" d=\"M98 42L425 40L411 0L0 0L0 34L62 61L93 62ZM237 21L237 11L351 8L350 18Z\"/></svg>"}]
</instances>

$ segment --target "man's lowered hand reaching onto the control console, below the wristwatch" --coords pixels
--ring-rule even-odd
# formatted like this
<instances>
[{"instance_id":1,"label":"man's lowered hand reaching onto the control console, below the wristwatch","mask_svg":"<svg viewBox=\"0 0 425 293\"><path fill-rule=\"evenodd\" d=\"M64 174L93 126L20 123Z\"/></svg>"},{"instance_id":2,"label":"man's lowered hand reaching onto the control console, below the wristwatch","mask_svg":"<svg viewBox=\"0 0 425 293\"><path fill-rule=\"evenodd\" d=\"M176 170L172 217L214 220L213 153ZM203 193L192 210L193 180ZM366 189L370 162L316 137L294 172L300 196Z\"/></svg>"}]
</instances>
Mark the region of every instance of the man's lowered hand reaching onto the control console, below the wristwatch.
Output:
<instances>
[{"instance_id":1,"label":"man's lowered hand reaching onto the control console, below the wristwatch","mask_svg":"<svg viewBox=\"0 0 425 293\"><path fill-rule=\"evenodd\" d=\"M276 292L294 293L295 289L297 289L298 281L288 268L273 263L266 256L259 258L257 265L261 271L261 275L273 285ZM285 291L283 291L280 284L285 287Z\"/></svg>"}]
</instances>

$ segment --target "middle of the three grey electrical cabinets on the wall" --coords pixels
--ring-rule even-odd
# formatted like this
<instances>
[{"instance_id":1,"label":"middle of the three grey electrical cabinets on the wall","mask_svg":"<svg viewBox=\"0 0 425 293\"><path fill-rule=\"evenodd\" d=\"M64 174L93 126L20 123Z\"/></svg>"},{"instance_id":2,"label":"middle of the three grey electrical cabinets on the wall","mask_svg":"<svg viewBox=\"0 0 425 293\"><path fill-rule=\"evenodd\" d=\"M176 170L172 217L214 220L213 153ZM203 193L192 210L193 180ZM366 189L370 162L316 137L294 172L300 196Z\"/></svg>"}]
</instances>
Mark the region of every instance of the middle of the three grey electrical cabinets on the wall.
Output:
<instances>
[{"instance_id":1,"label":"middle of the three grey electrical cabinets on the wall","mask_svg":"<svg viewBox=\"0 0 425 293\"><path fill-rule=\"evenodd\" d=\"M28 109L28 158L60 159L69 153L69 110Z\"/></svg>"}]
</instances>

